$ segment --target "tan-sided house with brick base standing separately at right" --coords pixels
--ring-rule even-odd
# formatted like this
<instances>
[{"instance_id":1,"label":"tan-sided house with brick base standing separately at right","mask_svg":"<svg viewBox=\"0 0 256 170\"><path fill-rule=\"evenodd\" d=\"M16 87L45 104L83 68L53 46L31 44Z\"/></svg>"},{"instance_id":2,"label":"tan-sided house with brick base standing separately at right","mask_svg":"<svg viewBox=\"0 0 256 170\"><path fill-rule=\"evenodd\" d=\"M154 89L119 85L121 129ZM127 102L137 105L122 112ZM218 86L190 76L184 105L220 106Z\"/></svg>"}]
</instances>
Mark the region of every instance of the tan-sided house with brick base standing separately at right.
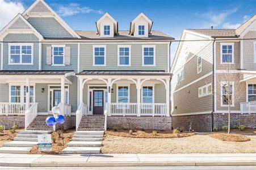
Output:
<instances>
[{"instance_id":1,"label":"tan-sided house with brick base standing separately at right","mask_svg":"<svg viewBox=\"0 0 256 170\"><path fill-rule=\"evenodd\" d=\"M256 15L237 29L186 29L171 67L173 128L212 131L228 124L225 90L216 85L229 63L243 75L244 94L232 105L231 124L256 127ZM228 40L225 40L228 39ZM247 39L247 40L241 40ZM248 40L253 39L253 40ZM205 41L204 41L205 40ZM209 41L207 41L209 40ZM230 57L229 59L227 58ZM236 87L232 87L236 93ZM256 88L255 88L256 89ZM213 95L215 94L215 95ZM219 94L219 95L217 95ZM250 107L248 107L250 103ZM242 106L242 107L240 107ZM248 111L249 110L249 111Z\"/></svg>"}]
</instances>

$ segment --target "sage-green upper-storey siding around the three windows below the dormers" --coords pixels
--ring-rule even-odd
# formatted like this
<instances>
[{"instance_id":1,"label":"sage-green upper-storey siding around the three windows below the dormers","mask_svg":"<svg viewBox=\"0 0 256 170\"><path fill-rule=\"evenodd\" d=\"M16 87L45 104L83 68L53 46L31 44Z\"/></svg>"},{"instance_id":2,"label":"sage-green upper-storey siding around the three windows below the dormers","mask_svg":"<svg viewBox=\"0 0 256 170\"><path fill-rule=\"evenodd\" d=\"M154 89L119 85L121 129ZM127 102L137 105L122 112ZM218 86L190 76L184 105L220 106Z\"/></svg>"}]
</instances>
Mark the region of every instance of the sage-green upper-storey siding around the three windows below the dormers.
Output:
<instances>
[{"instance_id":1,"label":"sage-green upper-storey siding around the three windows below the dormers","mask_svg":"<svg viewBox=\"0 0 256 170\"><path fill-rule=\"evenodd\" d=\"M102 44L106 45L106 44ZM122 44L123 45L123 44ZM129 45L129 44L127 44ZM131 44L131 66L117 66L117 44L107 44L107 66L93 66L93 44L80 45L80 70L166 70L168 67L167 44L156 44L156 66L142 67L142 46Z\"/></svg>"}]
</instances>

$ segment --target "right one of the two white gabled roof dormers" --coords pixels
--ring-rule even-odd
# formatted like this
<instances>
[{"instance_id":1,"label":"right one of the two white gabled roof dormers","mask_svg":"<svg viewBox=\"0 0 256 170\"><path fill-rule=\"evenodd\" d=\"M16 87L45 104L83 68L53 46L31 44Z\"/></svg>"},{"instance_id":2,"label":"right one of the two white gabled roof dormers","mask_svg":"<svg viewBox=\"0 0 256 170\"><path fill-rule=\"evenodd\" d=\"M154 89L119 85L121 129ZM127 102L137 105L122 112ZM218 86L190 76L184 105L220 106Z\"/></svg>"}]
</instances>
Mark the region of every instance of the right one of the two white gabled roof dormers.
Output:
<instances>
[{"instance_id":1,"label":"right one of the two white gabled roof dormers","mask_svg":"<svg viewBox=\"0 0 256 170\"><path fill-rule=\"evenodd\" d=\"M148 37L153 22L142 12L132 20L130 26L130 34L135 37Z\"/></svg>"}]
</instances>

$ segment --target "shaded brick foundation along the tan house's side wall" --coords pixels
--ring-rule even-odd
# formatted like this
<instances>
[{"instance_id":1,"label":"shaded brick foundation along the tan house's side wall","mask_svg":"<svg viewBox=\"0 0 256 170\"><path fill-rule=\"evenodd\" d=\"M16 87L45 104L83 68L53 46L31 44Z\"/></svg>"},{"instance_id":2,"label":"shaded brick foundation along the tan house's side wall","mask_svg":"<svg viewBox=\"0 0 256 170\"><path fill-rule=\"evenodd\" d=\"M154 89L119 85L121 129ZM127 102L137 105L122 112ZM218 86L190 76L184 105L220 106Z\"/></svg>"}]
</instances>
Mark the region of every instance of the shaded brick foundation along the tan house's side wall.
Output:
<instances>
[{"instance_id":1,"label":"shaded brick foundation along the tan house's side wall","mask_svg":"<svg viewBox=\"0 0 256 170\"><path fill-rule=\"evenodd\" d=\"M211 114L195 114L186 116L173 116L173 128L183 127L185 131L191 130L199 132L212 131L212 115Z\"/></svg>"}]
</instances>

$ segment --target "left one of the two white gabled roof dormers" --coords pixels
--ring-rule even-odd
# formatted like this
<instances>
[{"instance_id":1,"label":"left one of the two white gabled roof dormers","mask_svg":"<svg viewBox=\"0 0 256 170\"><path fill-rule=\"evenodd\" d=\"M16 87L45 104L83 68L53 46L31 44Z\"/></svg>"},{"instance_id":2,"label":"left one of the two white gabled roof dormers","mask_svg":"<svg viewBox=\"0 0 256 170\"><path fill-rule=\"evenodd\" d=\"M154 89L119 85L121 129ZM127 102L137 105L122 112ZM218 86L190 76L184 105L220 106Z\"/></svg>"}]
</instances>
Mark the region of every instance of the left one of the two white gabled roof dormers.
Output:
<instances>
[{"instance_id":1,"label":"left one of the two white gabled roof dormers","mask_svg":"<svg viewBox=\"0 0 256 170\"><path fill-rule=\"evenodd\" d=\"M108 13L104 14L97 22L96 27L100 37L114 37L118 34L116 20Z\"/></svg>"}]
</instances>

